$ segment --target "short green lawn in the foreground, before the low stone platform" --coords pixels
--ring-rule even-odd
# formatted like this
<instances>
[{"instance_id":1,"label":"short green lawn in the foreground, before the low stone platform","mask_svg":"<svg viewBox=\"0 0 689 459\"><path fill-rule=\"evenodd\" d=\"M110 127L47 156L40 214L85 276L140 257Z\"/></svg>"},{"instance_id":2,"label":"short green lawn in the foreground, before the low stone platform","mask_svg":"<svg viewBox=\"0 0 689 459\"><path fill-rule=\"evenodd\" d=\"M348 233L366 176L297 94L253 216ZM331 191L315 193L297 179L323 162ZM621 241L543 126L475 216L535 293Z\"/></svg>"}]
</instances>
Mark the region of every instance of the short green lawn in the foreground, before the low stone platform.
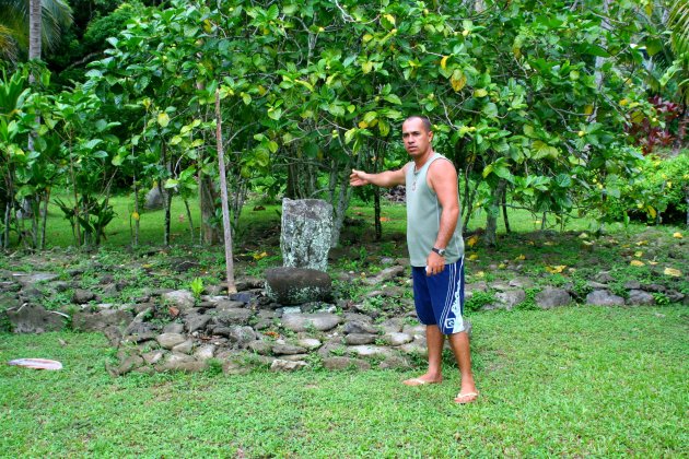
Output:
<instances>
[{"instance_id":1,"label":"short green lawn in the foreground, before the low stone platform","mask_svg":"<svg viewBox=\"0 0 689 459\"><path fill-rule=\"evenodd\" d=\"M98 334L0 334L0 456L458 457L689 455L684 306L474 314L480 401L458 376L303 370L110 378ZM61 345L60 340L66 342Z\"/></svg>"}]
</instances>

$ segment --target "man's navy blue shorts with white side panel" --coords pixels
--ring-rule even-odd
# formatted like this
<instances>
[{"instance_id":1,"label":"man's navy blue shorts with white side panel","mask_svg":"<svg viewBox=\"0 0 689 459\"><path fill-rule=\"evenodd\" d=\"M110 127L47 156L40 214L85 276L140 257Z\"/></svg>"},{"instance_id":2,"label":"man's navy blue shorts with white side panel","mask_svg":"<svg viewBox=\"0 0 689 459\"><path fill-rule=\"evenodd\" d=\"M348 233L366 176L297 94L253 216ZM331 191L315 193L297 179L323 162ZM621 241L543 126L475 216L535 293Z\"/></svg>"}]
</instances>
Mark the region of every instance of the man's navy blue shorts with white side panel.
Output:
<instances>
[{"instance_id":1,"label":"man's navy blue shorts with white side panel","mask_svg":"<svg viewBox=\"0 0 689 459\"><path fill-rule=\"evenodd\" d=\"M423 325L436 325L443 334L465 331L464 257L435 275L425 275L425 267L411 267L413 303Z\"/></svg>"}]
</instances>

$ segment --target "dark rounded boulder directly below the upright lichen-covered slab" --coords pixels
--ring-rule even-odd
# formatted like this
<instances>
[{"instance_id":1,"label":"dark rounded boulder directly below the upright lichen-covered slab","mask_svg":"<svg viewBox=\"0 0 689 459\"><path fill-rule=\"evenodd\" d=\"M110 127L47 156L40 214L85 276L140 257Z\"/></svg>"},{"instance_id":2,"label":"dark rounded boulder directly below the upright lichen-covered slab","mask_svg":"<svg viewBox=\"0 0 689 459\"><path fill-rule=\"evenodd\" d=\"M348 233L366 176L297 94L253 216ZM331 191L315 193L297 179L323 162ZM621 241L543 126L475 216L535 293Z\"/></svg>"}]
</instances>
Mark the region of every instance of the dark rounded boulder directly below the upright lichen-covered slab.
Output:
<instances>
[{"instance_id":1,"label":"dark rounded boulder directly below the upright lichen-covered slab","mask_svg":"<svg viewBox=\"0 0 689 459\"><path fill-rule=\"evenodd\" d=\"M330 276L307 268L273 268L266 271L266 295L282 305L327 301L332 290Z\"/></svg>"}]
</instances>

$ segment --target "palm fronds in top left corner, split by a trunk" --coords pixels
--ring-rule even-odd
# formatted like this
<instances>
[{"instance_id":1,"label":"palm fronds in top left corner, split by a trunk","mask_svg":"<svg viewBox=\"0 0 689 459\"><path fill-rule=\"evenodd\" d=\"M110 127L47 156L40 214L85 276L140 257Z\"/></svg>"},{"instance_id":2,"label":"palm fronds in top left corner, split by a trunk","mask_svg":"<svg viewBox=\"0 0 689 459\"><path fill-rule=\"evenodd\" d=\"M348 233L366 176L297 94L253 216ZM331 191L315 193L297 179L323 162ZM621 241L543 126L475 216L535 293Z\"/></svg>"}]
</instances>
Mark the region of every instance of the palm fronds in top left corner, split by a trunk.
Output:
<instances>
[{"instance_id":1,"label":"palm fronds in top left corner, split by a trunk","mask_svg":"<svg viewBox=\"0 0 689 459\"><path fill-rule=\"evenodd\" d=\"M30 3L32 0L0 0L0 59L17 59L30 48ZM66 0L38 0L42 11L42 45L55 48L61 32L72 23L72 10Z\"/></svg>"}]
</instances>

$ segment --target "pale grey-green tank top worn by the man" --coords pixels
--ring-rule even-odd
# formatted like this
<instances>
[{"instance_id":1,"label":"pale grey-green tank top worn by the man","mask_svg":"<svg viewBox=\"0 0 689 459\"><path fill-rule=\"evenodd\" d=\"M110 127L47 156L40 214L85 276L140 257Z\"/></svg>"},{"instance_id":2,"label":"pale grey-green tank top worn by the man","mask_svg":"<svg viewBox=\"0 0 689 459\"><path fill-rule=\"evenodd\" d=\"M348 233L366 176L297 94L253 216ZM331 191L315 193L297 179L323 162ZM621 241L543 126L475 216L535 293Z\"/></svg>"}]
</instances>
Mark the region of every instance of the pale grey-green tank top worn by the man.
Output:
<instances>
[{"instance_id":1,"label":"pale grey-green tank top worn by the man","mask_svg":"<svg viewBox=\"0 0 689 459\"><path fill-rule=\"evenodd\" d=\"M431 252L440 231L443 208L437 202L435 191L428 185L427 173L431 164L441 158L448 161L445 156L434 153L420 170L414 170L413 162L409 163L407 167L407 247L412 267L425 267L425 259ZM454 263L464 256L460 221L457 221L455 233L449 238L445 249L446 263Z\"/></svg>"}]
</instances>

